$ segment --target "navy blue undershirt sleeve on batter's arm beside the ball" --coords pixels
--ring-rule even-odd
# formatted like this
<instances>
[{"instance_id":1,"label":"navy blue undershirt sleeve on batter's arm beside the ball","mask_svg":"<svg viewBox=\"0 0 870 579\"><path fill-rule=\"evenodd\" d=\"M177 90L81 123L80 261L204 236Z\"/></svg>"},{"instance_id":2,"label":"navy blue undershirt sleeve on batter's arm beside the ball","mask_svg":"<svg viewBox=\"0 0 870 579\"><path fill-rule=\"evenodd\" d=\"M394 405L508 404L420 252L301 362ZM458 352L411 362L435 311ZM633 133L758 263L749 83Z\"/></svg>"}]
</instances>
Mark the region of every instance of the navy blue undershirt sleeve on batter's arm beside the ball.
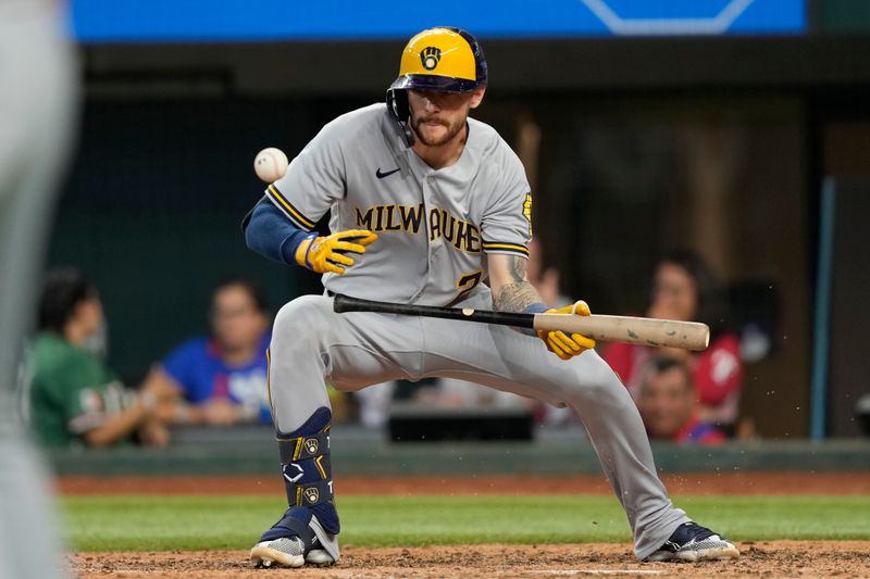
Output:
<instances>
[{"instance_id":1,"label":"navy blue undershirt sleeve on batter's arm beside the ball","mask_svg":"<svg viewBox=\"0 0 870 579\"><path fill-rule=\"evenodd\" d=\"M296 250L312 234L296 227L269 200L262 200L241 222L249 249L270 260L296 264Z\"/></svg>"}]
</instances>

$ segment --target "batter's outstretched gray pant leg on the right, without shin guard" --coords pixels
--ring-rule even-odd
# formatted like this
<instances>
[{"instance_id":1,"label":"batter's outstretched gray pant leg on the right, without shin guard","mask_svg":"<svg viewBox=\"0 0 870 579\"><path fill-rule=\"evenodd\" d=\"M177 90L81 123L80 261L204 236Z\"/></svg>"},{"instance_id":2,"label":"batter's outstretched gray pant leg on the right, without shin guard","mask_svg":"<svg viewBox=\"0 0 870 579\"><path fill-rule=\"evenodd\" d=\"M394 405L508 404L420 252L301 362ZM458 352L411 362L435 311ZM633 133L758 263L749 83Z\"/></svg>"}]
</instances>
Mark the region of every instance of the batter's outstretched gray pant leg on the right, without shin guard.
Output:
<instances>
[{"instance_id":1,"label":"batter's outstretched gray pant leg on the right, without shin guard","mask_svg":"<svg viewBox=\"0 0 870 579\"><path fill-rule=\"evenodd\" d=\"M461 306L492 304L488 294L481 294ZM562 361L537 337L505 326L457 327L436 318L422 323L426 375L476 381L576 412L625 509L638 558L650 555L689 520L673 506L656 474L649 439L629 391L595 351ZM433 335L449 339L432 340Z\"/></svg>"}]
</instances>

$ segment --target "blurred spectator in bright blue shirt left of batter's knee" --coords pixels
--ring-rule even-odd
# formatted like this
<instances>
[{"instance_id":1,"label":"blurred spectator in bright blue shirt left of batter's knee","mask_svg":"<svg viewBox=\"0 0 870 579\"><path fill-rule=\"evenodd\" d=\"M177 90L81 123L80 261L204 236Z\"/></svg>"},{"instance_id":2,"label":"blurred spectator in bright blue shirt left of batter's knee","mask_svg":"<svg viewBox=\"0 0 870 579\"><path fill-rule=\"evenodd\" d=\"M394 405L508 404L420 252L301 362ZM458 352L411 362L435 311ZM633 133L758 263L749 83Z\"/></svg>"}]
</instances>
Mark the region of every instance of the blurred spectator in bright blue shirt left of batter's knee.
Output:
<instances>
[{"instance_id":1,"label":"blurred spectator in bright blue shirt left of batter's knee","mask_svg":"<svg viewBox=\"0 0 870 579\"><path fill-rule=\"evenodd\" d=\"M210 320L211 336L178 345L146 380L175 394L163 416L177 424L271 424L270 315L263 292L241 278L221 282L212 294Z\"/></svg>"}]
</instances>

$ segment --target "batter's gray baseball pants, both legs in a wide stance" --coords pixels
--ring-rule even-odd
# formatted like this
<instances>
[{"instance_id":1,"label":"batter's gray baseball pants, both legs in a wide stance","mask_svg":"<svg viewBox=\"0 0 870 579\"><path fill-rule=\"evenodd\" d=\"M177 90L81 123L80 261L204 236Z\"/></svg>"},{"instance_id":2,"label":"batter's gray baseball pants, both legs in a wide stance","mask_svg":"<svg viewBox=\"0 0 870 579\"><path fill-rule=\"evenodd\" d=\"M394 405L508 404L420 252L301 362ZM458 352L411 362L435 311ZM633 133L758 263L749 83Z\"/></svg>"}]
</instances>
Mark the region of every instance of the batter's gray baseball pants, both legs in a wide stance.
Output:
<instances>
[{"instance_id":1,"label":"batter's gray baseball pants, both legs in a wide stance","mask_svg":"<svg viewBox=\"0 0 870 579\"><path fill-rule=\"evenodd\" d=\"M461 304L489 307L488 293ZM325 380L343 390L389 379L461 378L571 406L598 453L644 558L688 520L656 475L641 416L625 387L593 351L561 361L544 342L507 327L356 312L308 295L275 318L270 368L276 426L298 428L328 406Z\"/></svg>"}]
</instances>

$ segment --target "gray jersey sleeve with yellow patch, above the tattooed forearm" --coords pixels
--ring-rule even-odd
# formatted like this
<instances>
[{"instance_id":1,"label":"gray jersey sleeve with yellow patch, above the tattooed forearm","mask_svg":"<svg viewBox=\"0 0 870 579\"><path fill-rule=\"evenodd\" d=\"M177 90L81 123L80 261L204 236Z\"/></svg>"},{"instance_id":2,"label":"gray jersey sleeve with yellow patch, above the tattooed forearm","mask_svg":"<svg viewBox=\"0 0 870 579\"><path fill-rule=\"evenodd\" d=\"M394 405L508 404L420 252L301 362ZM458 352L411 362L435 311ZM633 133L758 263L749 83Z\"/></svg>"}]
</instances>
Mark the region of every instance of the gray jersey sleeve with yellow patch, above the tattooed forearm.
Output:
<instances>
[{"instance_id":1,"label":"gray jersey sleeve with yellow patch, above the tattooed forearm","mask_svg":"<svg viewBox=\"0 0 870 579\"><path fill-rule=\"evenodd\" d=\"M505 143L502 158L490 173L495 192L481 222L482 247L486 253L529 256L532 239L532 192L520 159Z\"/></svg>"}]
</instances>

